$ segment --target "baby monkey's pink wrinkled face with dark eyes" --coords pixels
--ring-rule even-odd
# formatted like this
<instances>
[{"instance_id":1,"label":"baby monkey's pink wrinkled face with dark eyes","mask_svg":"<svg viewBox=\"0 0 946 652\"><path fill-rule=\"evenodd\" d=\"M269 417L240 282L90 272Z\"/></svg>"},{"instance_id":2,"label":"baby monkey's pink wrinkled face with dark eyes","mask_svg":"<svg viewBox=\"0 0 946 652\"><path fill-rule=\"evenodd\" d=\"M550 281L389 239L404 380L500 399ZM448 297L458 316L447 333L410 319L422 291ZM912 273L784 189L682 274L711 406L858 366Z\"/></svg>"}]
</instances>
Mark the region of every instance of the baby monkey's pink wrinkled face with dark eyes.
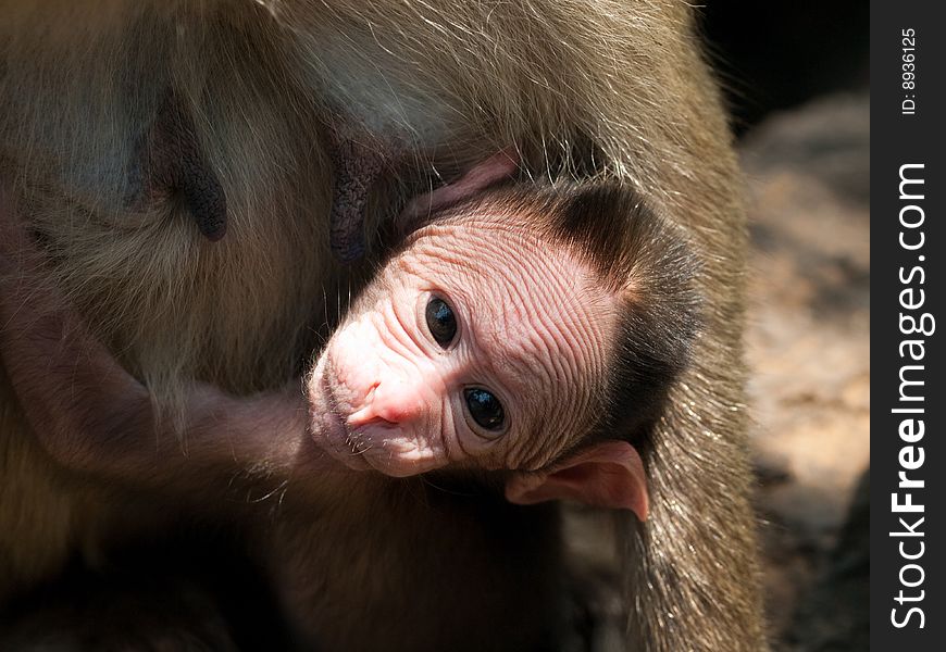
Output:
<instances>
[{"instance_id":1,"label":"baby monkey's pink wrinkled face with dark eyes","mask_svg":"<svg viewBox=\"0 0 946 652\"><path fill-rule=\"evenodd\" d=\"M312 430L356 469L535 469L581 437L617 314L571 256L462 218L412 237L308 380Z\"/></svg>"}]
</instances>

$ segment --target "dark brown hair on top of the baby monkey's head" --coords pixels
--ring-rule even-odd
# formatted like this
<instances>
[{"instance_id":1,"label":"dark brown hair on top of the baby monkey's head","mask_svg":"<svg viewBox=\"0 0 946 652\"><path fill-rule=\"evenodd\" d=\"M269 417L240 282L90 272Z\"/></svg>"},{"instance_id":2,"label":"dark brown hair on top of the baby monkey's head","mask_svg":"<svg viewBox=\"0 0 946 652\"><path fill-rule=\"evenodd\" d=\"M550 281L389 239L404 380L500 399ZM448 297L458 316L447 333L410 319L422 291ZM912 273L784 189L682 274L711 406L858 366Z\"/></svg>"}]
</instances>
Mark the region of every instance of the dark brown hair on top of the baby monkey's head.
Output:
<instances>
[{"instance_id":1,"label":"dark brown hair on top of the baby monkey's head","mask_svg":"<svg viewBox=\"0 0 946 652\"><path fill-rule=\"evenodd\" d=\"M689 362L700 325L696 258L679 228L618 184L580 187L549 215L552 238L585 260L620 302L615 358L584 443L637 444Z\"/></svg>"}]
</instances>

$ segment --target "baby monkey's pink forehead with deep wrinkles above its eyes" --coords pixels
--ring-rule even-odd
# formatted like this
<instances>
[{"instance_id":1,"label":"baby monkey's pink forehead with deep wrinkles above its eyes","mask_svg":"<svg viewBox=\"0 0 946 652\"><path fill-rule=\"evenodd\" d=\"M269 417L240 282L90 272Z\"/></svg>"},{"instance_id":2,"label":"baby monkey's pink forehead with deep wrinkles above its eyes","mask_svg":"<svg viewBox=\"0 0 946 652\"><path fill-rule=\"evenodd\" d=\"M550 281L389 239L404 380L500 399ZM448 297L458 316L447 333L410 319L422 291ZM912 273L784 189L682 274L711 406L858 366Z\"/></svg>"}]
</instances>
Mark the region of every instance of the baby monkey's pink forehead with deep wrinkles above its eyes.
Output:
<instances>
[{"instance_id":1,"label":"baby monkey's pink forehead with deep wrinkles above its eyes","mask_svg":"<svg viewBox=\"0 0 946 652\"><path fill-rule=\"evenodd\" d=\"M446 225L419 234L414 247L469 311L477 364L513 394L507 463L549 462L593 416L614 341L614 302L586 265L526 228Z\"/></svg>"}]
</instances>

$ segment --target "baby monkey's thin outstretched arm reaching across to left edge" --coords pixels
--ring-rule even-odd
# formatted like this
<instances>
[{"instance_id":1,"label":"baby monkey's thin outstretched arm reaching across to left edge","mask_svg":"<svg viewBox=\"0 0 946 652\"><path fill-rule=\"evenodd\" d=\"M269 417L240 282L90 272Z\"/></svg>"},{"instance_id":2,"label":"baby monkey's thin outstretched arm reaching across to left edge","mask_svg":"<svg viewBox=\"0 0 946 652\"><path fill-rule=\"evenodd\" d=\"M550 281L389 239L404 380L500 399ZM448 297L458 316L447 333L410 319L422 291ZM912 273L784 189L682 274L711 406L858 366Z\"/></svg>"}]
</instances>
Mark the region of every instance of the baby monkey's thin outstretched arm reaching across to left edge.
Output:
<instances>
[{"instance_id":1,"label":"baby monkey's thin outstretched arm reaching across to left edge","mask_svg":"<svg viewBox=\"0 0 946 652\"><path fill-rule=\"evenodd\" d=\"M312 443L296 386L236 398L195 384L183 427L160 418L147 388L45 280L42 256L2 193L0 354L36 437L74 471L163 485L249 465L335 467Z\"/></svg>"}]
</instances>

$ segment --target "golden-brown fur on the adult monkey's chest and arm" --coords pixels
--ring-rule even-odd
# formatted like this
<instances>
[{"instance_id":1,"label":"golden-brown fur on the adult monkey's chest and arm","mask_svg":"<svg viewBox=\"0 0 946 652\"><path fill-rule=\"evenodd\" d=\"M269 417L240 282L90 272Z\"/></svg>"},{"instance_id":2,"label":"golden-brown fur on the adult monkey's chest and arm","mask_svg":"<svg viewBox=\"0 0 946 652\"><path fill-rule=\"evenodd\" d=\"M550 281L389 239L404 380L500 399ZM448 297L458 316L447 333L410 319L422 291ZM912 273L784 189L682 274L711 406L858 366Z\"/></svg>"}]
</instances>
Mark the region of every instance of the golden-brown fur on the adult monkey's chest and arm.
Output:
<instances>
[{"instance_id":1,"label":"golden-brown fur on the adult monkey's chest and arm","mask_svg":"<svg viewBox=\"0 0 946 652\"><path fill-rule=\"evenodd\" d=\"M428 183L418 171L449 177L510 142L534 176L633 185L699 256L708 335L642 450L651 516L634 526L619 515L628 644L764 649L745 459L743 208L688 8L3 0L0 15L4 183L55 260L59 286L172 417L195 378L238 393L281 386L316 348L320 325L337 321L335 298L370 274L327 253L324 128L339 108L411 154L372 198L375 223ZM124 203L135 142L169 88L226 195L220 242L202 239L179 203ZM0 429L2 595L54 574L77 549L94 560L123 498L45 460L5 385ZM419 531L436 536L446 517ZM344 514L311 537L299 523L304 514L287 506L281 541L314 568L340 548L359 551L358 569L373 554L360 539L378 541ZM549 550L524 541L509 550ZM404 542L387 559L399 550L412 554ZM490 570L507 586L530 576ZM377 581L374 595L396 586ZM347 595L334 607L337 631L370 629L359 627L371 623L356 609L363 597L348 594L357 582L307 586ZM418 600L436 602L435 588L418 584Z\"/></svg>"}]
</instances>

